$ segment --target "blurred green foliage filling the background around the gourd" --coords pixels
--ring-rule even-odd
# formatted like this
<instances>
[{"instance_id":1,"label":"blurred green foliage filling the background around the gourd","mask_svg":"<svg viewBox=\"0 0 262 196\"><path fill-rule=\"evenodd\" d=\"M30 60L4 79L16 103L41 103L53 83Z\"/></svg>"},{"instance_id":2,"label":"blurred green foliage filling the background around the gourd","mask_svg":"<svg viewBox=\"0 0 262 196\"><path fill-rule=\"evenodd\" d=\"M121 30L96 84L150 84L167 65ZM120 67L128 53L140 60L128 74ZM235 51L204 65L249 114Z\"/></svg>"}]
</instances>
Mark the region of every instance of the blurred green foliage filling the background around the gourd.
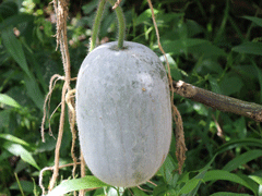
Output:
<instances>
[{"instance_id":1,"label":"blurred green foliage filling the background around the gourd","mask_svg":"<svg viewBox=\"0 0 262 196\"><path fill-rule=\"evenodd\" d=\"M87 54L97 2L70 1L72 77ZM146 0L121 4L126 39L143 44L160 57ZM153 5L174 79L262 103L260 0L153 0ZM0 196L40 195L39 170L53 166L60 109L50 120L53 137L46 123L46 143L41 143L40 123L49 79L53 74L63 75L55 34L56 16L48 0L0 3ZM107 5L99 40L116 38L116 15ZM49 115L60 102L61 88L62 82L58 81ZM260 123L180 96L175 96L175 103L182 114L188 147L183 174L177 173L172 142L166 162L152 179L158 186L145 184L142 187L150 192L132 188L124 195L262 195ZM71 132L66 122L60 164L72 162L70 147ZM70 175L71 168L64 168L59 180ZM46 187L50 176L51 172L44 175ZM100 188L86 195L103 193Z\"/></svg>"}]
</instances>

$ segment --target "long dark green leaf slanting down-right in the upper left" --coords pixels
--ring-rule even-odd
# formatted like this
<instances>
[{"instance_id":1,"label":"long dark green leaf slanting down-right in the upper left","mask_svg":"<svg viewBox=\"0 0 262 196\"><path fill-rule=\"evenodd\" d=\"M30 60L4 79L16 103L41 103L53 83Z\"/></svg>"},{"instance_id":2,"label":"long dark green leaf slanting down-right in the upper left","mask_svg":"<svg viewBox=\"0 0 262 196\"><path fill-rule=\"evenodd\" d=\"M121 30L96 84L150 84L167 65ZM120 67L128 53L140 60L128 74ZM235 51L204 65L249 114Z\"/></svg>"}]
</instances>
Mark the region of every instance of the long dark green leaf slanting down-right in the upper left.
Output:
<instances>
[{"instance_id":1,"label":"long dark green leaf slanting down-right in the upper left","mask_svg":"<svg viewBox=\"0 0 262 196\"><path fill-rule=\"evenodd\" d=\"M15 60L15 62L21 66L21 69L26 73L28 77L32 77L32 73L29 72L24 50L22 48L21 42L14 36L12 28L5 28L1 32L2 34L2 41L4 47L7 48L8 52L11 57Z\"/></svg>"}]
</instances>

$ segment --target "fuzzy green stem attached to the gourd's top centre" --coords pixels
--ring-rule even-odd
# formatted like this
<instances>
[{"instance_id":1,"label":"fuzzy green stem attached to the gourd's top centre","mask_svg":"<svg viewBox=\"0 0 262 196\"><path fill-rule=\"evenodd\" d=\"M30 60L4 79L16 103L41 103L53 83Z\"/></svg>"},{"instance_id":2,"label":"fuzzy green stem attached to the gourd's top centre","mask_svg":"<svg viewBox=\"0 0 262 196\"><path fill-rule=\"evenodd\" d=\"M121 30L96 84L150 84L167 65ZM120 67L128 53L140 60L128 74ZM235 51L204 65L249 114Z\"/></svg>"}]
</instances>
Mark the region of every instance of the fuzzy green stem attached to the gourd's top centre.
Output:
<instances>
[{"instance_id":1,"label":"fuzzy green stem attached to the gourd's top centre","mask_svg":"<svg viewBox=\"0 0 262 196\"><path fill-rule=\"evenodd\" d=\"M116 1L108 0L109 3L114 7ZM121 49L123 47L123 39L126 34L126 22L122 9L118 5L116 8L117 19L118 19L118 48Z\"/></svg>"}]
</instances>

